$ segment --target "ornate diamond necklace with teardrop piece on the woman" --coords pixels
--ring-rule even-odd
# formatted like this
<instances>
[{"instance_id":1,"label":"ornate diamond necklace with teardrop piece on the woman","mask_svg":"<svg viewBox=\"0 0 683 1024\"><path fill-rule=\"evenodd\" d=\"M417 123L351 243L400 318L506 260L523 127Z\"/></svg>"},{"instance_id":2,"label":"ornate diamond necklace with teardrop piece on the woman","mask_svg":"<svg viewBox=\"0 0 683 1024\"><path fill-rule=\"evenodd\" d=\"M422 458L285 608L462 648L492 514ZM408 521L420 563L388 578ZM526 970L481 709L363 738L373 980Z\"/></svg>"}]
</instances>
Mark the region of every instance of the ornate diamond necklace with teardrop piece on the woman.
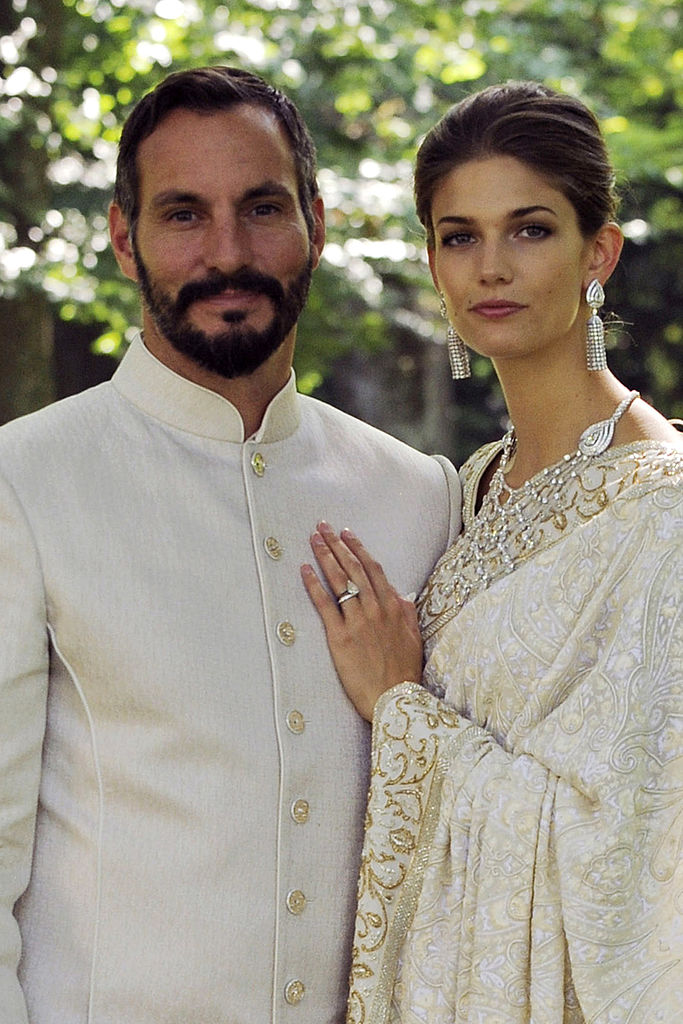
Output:
<instances>
[{"instance_id":1,"label":"ornate diamond necklace with teardrop piece on the woman","mask_svg":"<svg viewBox=\"0 0 683 1024\"><path fill-rule=\"evenodd\" d=\"M561 532L565 528L575 495L572 481L593 459L607 451L614 427L638 397L638 391L631 391L608 419L584 430L575 452L515 488L508 486L505 479L505 470L516 450L514 427L508 430L503 438L501 461L467 530L469 556L484 587L500 572L511 572L519 561L528 557L548 529ZM506 500L502 501L503 498Z\"/></svg>"}]
</instances>

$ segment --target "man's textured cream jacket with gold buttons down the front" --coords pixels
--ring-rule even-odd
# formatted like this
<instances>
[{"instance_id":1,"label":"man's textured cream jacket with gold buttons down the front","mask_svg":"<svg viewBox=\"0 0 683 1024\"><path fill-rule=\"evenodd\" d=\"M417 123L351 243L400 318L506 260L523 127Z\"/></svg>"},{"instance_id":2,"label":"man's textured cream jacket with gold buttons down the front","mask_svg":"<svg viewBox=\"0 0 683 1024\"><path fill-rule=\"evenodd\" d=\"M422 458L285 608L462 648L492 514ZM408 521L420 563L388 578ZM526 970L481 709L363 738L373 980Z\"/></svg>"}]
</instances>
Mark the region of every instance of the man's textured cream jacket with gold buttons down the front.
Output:
<instances>
[{"instance_id":1,"label":"man's textured cream jacket with gold buttons down the front","mask_svg":"<svg viewBox=\"0 0 683 1024\"><path fill-rule=\"evenodd\" d=\"M1 1024L19 930L31 1024L342 1019L370 730L299 565L326 517L417 591L459 510L293 380L243 439L139 340L0 430Z\"/></svg>"}]
</instances>

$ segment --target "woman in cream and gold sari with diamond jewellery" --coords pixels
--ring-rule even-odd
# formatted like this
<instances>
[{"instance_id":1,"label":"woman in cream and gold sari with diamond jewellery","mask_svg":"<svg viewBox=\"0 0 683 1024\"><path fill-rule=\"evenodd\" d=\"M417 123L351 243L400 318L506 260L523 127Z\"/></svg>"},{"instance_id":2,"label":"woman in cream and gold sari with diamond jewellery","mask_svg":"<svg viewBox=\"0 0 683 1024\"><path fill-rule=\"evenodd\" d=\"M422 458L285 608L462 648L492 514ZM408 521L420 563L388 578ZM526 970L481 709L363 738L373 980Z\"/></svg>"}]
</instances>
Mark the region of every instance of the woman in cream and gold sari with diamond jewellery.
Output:
<instances>
[{"instance_id":1,"label":"woman in cream and gold sari with diamond jewellery","mask_svg":"<svg viewBox=\"0 0 683 1024\"><path fill-rule=\"evenodd\" d=\"M620 257L595 118L486 89L416 171L451 322L511 431L462 470L464 529L413 605L348 530L310 566L373 720L349 1021L673 1021L683 1006L683 452L605 368ZM588 328L587 328L588 322Z\"/></svg>"}]
</instances>

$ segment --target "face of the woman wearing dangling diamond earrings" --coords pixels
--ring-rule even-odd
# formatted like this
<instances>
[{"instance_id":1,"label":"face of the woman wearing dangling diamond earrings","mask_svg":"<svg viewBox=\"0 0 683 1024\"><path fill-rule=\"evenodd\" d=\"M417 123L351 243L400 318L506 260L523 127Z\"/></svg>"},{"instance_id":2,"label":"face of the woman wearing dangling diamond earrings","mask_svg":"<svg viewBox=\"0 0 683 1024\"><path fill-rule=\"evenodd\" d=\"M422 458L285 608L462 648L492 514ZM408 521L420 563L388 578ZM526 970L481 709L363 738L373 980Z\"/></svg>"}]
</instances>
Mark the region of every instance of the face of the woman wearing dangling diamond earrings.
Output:
<instances>
[{"instance_id":1,"label":"face of the woman wearing dangling diamond earrings","mask_svg":"<svg viewBox=\"0 0 683 1024\"><path fill-rule=\"evenodd\" d=\"M472 160L438 183L431 217L434 284L471 348L495 361L583 350L601 232L583 237L561 191L514 157Z\"/></svg>"}]
</instances>

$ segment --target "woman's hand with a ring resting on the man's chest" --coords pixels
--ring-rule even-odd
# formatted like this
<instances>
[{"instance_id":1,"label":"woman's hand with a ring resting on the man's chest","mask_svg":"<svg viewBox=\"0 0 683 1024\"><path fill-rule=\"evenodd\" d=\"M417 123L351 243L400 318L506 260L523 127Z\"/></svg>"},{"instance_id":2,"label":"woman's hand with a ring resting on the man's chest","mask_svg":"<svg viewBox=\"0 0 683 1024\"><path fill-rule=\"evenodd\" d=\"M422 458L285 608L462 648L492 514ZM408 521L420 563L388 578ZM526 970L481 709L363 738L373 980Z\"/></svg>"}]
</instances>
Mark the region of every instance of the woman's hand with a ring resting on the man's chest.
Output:
<instances>
[{"instance_id":1,"label":"woman's hand with a ring resting on the man's chest","mask_svg":"<svg viewBox=\"0 0 683 1024\"><path fill-rule=\"evenodd\" d=\"M422 639L412 601L389 584L379 562L350 530L338 537L326 522L311 537L311 547L333 594L339 598L349 582L357 596L339 603L310 565L301 567L308 596L317 608L335 667L348 696L372 722L378 698L386 690L422 676ZM351 586L353 591L353 586Z\"/></svg>"}]
</instances>

